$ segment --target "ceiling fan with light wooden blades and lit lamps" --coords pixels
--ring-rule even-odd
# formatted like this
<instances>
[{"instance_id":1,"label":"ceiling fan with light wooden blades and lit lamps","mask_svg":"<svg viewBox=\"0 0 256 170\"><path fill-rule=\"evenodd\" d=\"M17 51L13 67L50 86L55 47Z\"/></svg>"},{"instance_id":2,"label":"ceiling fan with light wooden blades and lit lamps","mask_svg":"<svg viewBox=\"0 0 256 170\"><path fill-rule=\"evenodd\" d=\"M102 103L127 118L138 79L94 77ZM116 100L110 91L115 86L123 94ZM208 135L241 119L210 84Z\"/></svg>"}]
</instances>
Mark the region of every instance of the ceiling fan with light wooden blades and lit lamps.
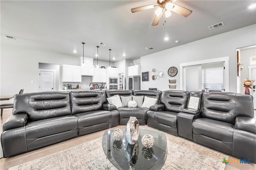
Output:
<instances>
[{"instance_id":1,"label":"ceiling fan with light wooden blades and lit lamps","mask_svg":"<svg viewBox=\"0 0 256 170\"><path fill-rule=\"evenodd\" d=\"M171 11L176 12L177 14L180 14L184 17L188 17L192 11L184 8L182 6L173 4L172 2L174 2L176 0L158 0L157 4L151 4L151 5L146 5L146 6L140 6L137 8L132 8L131 11L132 13L134 12L139 12L142 10L148 10L151 8L156 8L155 14L156 14L156 18L154 19L152 26L158 25L160 18L162 17L163 14L165 14L165 17L169 17L172 15Z\"/></svg>"}]
</instances>

